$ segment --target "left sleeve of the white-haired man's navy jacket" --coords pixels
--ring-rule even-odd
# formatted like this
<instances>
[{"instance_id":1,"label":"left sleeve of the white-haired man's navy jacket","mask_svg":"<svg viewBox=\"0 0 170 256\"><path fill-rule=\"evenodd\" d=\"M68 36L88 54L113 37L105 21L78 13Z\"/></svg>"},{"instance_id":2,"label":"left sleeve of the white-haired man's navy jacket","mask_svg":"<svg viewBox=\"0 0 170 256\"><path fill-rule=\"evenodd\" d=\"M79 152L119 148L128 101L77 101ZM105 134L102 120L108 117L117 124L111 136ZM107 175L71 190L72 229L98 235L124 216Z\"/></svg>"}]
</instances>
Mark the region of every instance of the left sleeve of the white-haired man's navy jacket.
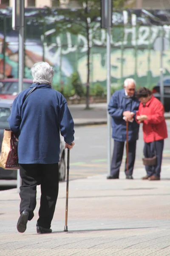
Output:
<instances>
[{"instance_id":1,"label":"left sleeve of the white-haired man's navy jacket","mask_svg":"<svg viewBox=\"0 0 170 256\"><path fill-rule=\"evenodd\" d=\"M123 118L123 109L118 107L117 97L113 93L111 100L108 105L108 112L110 116L116 119Z\"/></svg>"}]
</instances>

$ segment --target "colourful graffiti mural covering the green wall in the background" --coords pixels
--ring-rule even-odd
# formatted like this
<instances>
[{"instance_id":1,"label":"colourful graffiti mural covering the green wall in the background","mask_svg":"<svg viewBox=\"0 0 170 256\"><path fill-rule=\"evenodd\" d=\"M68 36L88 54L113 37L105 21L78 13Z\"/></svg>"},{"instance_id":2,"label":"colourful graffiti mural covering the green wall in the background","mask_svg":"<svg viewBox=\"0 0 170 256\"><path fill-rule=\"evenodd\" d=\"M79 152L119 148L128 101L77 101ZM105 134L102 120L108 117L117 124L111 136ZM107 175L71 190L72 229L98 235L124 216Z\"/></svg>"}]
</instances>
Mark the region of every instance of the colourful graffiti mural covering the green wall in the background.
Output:
<instances>
[{"instance_id":1,"label":"colourful graffiti mural covering the green wall in the background","mask_svg":"<svg viewBox=\"0 0 170 256\"><path fill-rule=\"evenodd\" d=\"M97 25L99 26L99 24ZM126 77L135 77L139 85L151 86L159 79L160 52L156 51L156 38L164 31L164 38L170 40L170 26L140 26L116 28L111 36L111 77L112 83ZM56 35L50 29L39 39L26 39L25 42L25 77L31 78L30 69L37 61L48 61L54 66L54 83L66 82L67 78L78 70L83 84L87 79L88 42L83 35ZM102 29L96 37L91 32L91 83L97 81L105 84L106 65L106 31ZM0 78L5 75L18 76L18 38L6 36L5 61L4 37L0 34ZM164 74L170 74L170 51L163 55Z\"/></svg>"}]
</instances>

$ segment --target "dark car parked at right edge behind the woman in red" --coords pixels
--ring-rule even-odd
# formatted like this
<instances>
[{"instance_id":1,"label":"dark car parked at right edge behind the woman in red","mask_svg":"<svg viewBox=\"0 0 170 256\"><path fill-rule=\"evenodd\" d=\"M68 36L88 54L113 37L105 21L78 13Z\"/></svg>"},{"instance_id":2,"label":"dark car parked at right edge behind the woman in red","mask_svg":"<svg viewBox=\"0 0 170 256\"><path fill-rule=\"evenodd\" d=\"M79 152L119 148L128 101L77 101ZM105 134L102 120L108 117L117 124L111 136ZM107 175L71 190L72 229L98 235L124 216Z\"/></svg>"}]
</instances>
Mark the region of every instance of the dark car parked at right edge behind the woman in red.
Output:
<instances>
[{"instance_id":1,"label":"dark car parked at right edge behind the woman in red","mask_svg":"<svg viewBox=\"0 0 170 256\"><path fill-rule=\"evenodd\" d=\"M165 112L169 112L170 111L170 76L164 76L163 83L164 83L164 110ZM153 87L152 93L157 99L159 100L161 99L160 80L156 84L156 86Z\"/></svg>"}]
</instances>

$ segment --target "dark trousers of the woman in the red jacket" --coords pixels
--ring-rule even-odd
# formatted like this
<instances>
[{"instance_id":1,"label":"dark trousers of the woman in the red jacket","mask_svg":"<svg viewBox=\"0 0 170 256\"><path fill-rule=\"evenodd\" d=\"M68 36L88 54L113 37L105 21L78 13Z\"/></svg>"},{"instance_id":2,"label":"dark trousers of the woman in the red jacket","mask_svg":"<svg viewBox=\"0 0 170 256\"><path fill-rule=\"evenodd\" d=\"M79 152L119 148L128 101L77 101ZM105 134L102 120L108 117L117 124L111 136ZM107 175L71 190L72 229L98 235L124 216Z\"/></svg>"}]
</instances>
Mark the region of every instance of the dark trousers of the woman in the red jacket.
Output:
<instances>
[{"instance_id":1,"label":"dark trousers of the woman in the red jacket","mask_svg":"<svg viewBox=\"0 0 170 256\"><path fill-rule=\"evenodd\" d=\"M154 148L156 148L157 164L156 166L145 166L147 176L160 177L162 154L164 149L164 140L157 140L155 142L144 143L144 157L154 157Z\"/></svg>"}]
</instances>

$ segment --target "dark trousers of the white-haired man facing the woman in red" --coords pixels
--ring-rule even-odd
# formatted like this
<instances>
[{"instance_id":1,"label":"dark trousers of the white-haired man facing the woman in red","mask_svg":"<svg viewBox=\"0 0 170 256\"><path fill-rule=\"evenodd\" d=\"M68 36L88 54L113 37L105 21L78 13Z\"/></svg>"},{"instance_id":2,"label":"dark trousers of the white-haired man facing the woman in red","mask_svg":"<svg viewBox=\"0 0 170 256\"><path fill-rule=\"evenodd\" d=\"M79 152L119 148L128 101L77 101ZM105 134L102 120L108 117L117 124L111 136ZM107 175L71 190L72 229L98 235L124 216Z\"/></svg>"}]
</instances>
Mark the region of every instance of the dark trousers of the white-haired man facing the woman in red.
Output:
<instances>
[{"instance_id":1,"label":"dark trousers of the white-haired man facing the woman in red","mask_svg":"<svg viewBox=\"0 0 170 256\"><path fill-rule=\"evenodd\" d=\"M119 177L119 170L122 163L125 142L114 140L113 157L111 161L111 176ZM128 144L128 175L133 174L133 167L136 157L136 140L130 141ZM126 165L125 174L127 175Z\"/></svg>"}]
</instances>

